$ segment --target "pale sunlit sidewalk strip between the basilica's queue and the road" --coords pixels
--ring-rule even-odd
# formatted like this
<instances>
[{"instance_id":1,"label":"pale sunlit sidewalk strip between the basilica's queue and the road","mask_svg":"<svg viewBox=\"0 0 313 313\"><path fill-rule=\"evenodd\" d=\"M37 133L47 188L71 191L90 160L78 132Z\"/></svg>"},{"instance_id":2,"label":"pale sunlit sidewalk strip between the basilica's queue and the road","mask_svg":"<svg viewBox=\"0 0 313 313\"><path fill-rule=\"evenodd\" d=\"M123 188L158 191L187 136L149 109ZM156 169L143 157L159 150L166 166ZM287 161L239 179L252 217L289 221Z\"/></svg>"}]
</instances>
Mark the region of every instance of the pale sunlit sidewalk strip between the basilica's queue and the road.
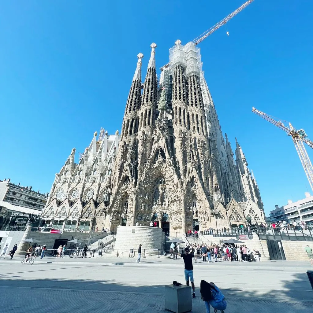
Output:
<instances>
[{"instance_id":1,"label":"pale sunlit sidewalk strip between the basilica's queue and the road","mask_svg":"<svg viewBox=\"0 0 313 313\"><path fill-rule=\"evenodd\" d=\"M0 259L1 263L11 263L11 264L20 264L23 256L14 257L12 260L10 258ZM93 258L69 258L65 256L64 258L57 259L55 256L45 256L43 259L35 259L34 264L67 264L67 265L121 265L121 266L151 266L151 267L182 267L184 262L182 259L178 258L177 260L168 259L164 257L157 258L156 256L151 256L147 258L142 258L141 263L136 263L136 258L117 258L117 257L93 257ZM194 268L219 268L219 269L260 269L260 270L290 270L290 271L306 271L312 270L309 262L306 261L263 261L263 262L213 262L213 263L204 263L198 261L193 263Z\"/></svg>"}]
</instances>

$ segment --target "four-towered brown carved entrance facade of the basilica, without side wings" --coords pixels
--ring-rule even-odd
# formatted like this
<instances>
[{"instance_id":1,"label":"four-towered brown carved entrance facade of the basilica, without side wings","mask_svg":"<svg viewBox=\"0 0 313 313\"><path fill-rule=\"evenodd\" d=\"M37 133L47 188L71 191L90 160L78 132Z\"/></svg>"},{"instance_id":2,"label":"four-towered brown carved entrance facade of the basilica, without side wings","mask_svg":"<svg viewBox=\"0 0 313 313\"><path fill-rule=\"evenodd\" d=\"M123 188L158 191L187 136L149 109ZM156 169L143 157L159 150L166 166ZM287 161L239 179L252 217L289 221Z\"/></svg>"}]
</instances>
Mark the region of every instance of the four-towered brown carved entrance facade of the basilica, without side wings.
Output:
<instances>
[{"instance_id":1,"label":"four-towered brown carved entrance facade of the basilica, without side wings","mask_svg":"<svg viewBox=\"0 0 313 313\"><path fill-rule=\"evenodd\" d=\"M125 224L147 225L154 219L159 227L169 223L169 230L185 232L193 227L195 217L207 221L213 210L211 152L198 64L200 49L192 43L182 46L179 40L171 49L171 110L165 90L157 102L155 48L156 44L151 44L141 100L142 54L138 55L112 175L108 213L112 216L111 229Z\"/></svg>"}]
</instances>

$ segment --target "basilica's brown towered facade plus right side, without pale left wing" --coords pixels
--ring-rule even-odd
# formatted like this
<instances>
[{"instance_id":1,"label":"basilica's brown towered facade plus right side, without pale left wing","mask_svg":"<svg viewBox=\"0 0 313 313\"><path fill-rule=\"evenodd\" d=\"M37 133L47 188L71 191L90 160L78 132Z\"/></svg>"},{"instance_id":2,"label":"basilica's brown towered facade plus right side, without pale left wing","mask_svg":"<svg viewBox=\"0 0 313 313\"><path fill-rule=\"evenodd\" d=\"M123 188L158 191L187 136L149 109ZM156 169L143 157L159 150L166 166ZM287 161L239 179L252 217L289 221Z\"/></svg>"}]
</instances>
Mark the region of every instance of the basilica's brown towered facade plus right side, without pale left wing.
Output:
<instances>
[{"instance_id":1,"label":"basilica's brown towered facade plus right side, without pale left wing","mask_svg":"<svg viewBox=\"0 0 313 313\"><path fill-rule=\"evenodd\" d=\"M128 95L112 173L110 228L169 223L169 230L228 228L251 215L264 221L258 186L237 143L236 163L222 136L194 44L170 49L172 98L158 95L156 44L141 94L142 54ZM159 89L160 91L160 89ZM251 206L251 208L250 208Z\"/></svg>"}]
</instances>

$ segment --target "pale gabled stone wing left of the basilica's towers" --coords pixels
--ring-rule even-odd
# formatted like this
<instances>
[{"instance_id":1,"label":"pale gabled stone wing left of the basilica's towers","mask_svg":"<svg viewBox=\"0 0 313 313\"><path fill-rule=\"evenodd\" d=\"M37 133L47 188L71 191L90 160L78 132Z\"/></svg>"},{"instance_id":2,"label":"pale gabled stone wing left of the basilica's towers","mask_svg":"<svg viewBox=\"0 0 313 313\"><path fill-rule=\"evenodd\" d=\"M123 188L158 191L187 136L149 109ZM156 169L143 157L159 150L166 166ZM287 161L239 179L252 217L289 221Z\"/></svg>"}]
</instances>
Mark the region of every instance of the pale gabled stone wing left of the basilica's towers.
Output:
<instances>
[{"instance_id":1,"label":"pale gabled stone wing left of the basilica's towers","mask_svg":"<svg viewBox=\"0 0 313 313\"><path fill-rule=\"evenodd\" d=\"M101 129L74 163L75 148L55 175L43 211L41 226L67 231L102 229L110 202L111 176L119 143L118 131L109 136ZM110 218L108 217L109 221Z\"/></svg>"}]
</instances>

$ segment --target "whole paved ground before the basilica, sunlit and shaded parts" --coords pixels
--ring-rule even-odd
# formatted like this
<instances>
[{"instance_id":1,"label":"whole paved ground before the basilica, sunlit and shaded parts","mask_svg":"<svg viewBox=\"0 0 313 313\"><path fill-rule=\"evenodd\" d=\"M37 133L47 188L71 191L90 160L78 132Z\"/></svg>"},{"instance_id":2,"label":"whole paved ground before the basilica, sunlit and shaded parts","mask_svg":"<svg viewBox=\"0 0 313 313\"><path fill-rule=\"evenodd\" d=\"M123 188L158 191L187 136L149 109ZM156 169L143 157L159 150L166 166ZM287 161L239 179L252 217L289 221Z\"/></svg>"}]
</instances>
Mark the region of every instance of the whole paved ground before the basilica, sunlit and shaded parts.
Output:
<instances>
[{"instance_id":1,"label":"whole paved ground before the basilica, sunlit and shaded parts","mask_svg":"<svg viewBox=\"0 0 313 313\"><path fill-rule=\"evenodd\" d=\"M121 260L124 262L115 262L121 265L109 265L114 262L104 259L99 264L96 258L58 262L54 258L45 263L36 260L33 265L18 264L18 258L14 263L0 260L3 312L30 313L36 303L42 313L168 312L164 308L164 285L173 280L184 283L183 261L144 259L142 264L134 264L134 259ZM294 313L313 307L313 291L305 273L311 267L303 262L194 265L194 313L205 312L199 291L201 279L222 289L227 300L225 312Z\"/></svg>"}]
</instances>

